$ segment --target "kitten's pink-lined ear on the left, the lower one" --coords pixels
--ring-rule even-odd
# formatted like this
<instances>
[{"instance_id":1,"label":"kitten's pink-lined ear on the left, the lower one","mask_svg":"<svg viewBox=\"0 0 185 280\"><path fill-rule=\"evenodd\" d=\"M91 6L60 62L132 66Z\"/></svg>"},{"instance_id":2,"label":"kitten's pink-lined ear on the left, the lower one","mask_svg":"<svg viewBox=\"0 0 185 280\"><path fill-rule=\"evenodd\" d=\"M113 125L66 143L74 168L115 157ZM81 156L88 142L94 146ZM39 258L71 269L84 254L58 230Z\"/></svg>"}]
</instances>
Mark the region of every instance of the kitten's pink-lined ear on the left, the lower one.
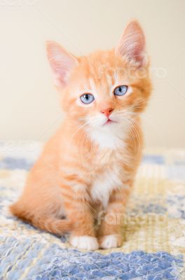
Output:
<instances>
[{"instance_id":1,"label":"kitten's pink-lined ear on the left, the lower one","mask_svg":"<svg viewBox=\"0 0 185 280\"><path fill-rule=\"evenodd\" d=\"M71 70L78 64L77 59L70 55L61 45L53 41L46 42L46 50L48 61L53 71L55 85L64 87L67 85L67 80Z\"/></svg>"}]
</instances>

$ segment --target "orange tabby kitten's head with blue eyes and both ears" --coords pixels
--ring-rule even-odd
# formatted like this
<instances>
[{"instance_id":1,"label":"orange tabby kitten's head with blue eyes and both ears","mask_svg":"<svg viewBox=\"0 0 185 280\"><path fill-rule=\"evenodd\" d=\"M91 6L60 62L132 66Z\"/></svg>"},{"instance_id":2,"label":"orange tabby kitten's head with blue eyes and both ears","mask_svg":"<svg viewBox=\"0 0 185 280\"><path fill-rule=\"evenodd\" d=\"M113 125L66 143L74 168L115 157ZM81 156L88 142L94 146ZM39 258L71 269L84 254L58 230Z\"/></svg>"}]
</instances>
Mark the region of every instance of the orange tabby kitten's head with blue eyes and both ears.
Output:
<instances>
[{"instance_id":1,"label":"orange tabby kitten's head with blue eyes and both ears","mask_svg":"<svg viewBox=\"0 0 185 280\"><path fill-rule=\"evenodd\" d=\"M144 110L151 83L137 21L128 24L114 50L74 57L49 41L47 52L62 108L88 129L121 130Z\"/></svg>"}]
</instances>

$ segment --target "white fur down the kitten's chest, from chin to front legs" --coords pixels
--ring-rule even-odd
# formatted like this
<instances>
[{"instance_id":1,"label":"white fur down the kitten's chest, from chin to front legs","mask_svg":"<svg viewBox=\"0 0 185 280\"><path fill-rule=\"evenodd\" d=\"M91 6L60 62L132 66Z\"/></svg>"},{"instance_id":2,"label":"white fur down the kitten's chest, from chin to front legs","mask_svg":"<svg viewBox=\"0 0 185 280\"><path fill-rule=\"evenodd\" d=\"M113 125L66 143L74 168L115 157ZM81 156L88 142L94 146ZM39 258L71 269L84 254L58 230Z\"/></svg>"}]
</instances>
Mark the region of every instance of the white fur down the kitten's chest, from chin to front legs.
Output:
<instances>
[{"instance_id":1,"label":"white fur down the kitten's chest, from chin to front legs","mask_svg":"<svg viewBox=\"0 0 185 280\"><path fill-rule=\"evenodd\" d=\"M127 160L125 139L128 132L123 127L107 126L102 130L91 131L90 136L100 148L97 153L97 166L105 167L102 174L95 176L90 196L94 201L107 207L113 190L123 187L123 161ZM125 157L125 158L123 158Z\"/></svg>"}]
</instances>

